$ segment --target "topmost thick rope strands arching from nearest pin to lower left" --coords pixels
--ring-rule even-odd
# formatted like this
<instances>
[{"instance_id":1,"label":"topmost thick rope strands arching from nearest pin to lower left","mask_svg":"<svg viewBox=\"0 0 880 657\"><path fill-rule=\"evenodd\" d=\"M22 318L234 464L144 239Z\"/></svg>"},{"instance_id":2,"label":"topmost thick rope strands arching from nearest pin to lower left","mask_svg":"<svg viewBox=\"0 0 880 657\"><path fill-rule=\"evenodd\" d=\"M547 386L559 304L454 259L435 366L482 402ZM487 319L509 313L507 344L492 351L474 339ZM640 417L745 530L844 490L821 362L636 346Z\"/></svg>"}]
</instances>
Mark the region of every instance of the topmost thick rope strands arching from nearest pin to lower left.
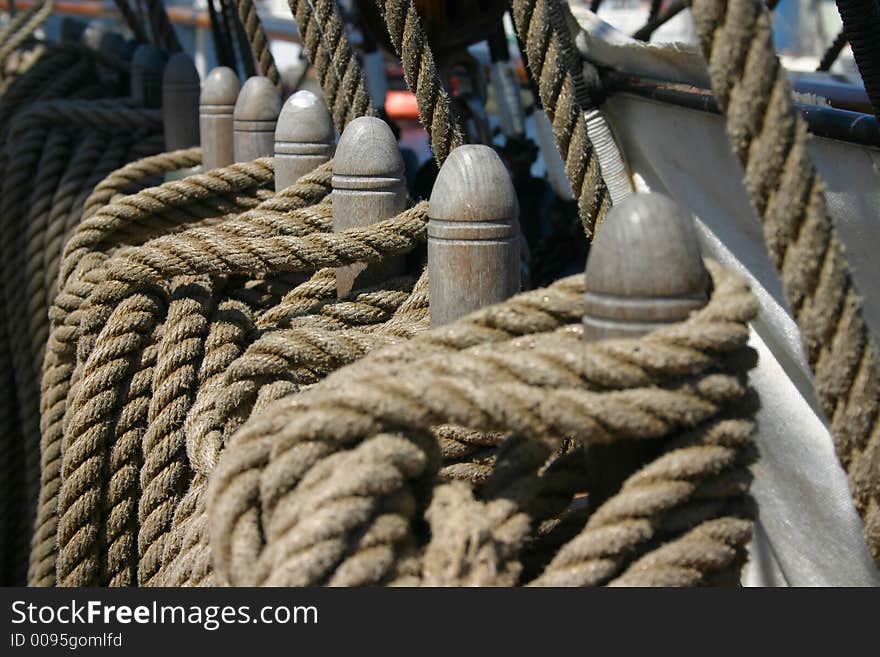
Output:
<instances>
[{"instance_id":1,"label":"topmost thick rope strands arching from nearest pin to lower left","mask_svg":"<svg viewBox=\"0 0 880 657\"><path fill-rule=\"evenodd\" d=\"M334 377L328 377L313 390L279 401L264 420L254 418L236 434L209 482L215 567L232 583L259 583L261 578L273 583L285 581L284 573L290 571L281 564L289 556L287 548L300 549L295 547L299 539L291 529L288 496L296 495L298 482L312 465L369 435L403 427L425 430L433 424L452 422L485 431L513 430L533 438L567 435L603 442L635 436L659 438L675 427L693 426L712 417L743 394L742 386L730 377L707 374L700 383L651 393L642 389L586 392L554 386L586 380L603 388L615 383L615 387L626 387L649 384L657 380L654 377L673 372L695 375L713 362L708 355L713 350L742 347L747 330L736 322L754 313L754 304L741 284L719 280L716 295L715 303L676 327L677 331L658 331L645 338L650 338L650 348L630 342L626 360L605 360L617 350L617 344L624 344L621 341L600 344L597 359L588 358L585 363L575 355L584 348L577 331L568 331L549 334L543 340L529 338L531 352L514 341L510 351L501 343L497 356L497 349L483 347L460 356L426 359L417 367L410 366L412 373L407 377L394 367L355 367L351 374L341 370L337 377L344 374L347 385L335 379L331 384ZM708 321L712 330L707 327L705 334L700 333L697 327L701 321ZM722 326L725 328L720 330ZM702 337L695 338L696 334ZM684 340L688 348L661 349L667 340L673 344ZM698 345L709 352L700 352ZM515 353L517 358L504 358L504 353ZM524 353L532 357L520 367ZM649 369L632 370L633 360L642 358L651 363ZM624 362L626 368L621 367ZM660 370L653 369L656 367ZM499 383L479 387L471 383L490 380ZM591 414L595 414L593 419ZM251 507L257 490L261 509ZM263 527L265 548L260 545L260 535L253 533L253 523ZM245 572L235 568L230 557L261 565ZM273 574L276 565L282 568L281 574Z\"/></svg>"}]
</instances>

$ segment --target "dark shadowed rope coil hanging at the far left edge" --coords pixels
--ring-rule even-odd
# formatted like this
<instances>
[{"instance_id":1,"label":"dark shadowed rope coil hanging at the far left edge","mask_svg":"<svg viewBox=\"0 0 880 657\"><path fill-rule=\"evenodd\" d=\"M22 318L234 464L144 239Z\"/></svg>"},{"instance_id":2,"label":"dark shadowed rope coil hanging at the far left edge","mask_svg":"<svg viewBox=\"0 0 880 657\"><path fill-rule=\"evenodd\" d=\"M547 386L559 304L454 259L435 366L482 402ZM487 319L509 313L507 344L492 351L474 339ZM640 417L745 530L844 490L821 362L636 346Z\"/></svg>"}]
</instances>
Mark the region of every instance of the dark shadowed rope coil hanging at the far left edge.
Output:
<instances>
[{"instance_id":1,"label":"dark shadowed rope coil hanging at the far left edge","mask_svg":"<svg viewBox=\"0 0 880 657\"><path fill-rule=\"evenodd\" d=\"M14 542L3 581L25 579L40 488L40 370L49 333L61 248L86 195L132 157L162 147L159 114L107 98L97 67L116 65L83 46L44 49L0 97L3 195L3 345L8 374L4 412L14 416L2 441L9 489L2 542ZM59 73L59 70L61 71ZM86 100L105 96L99 100ZM57 98L65 98L58 100Z\"/></svg>"}]
</instances>

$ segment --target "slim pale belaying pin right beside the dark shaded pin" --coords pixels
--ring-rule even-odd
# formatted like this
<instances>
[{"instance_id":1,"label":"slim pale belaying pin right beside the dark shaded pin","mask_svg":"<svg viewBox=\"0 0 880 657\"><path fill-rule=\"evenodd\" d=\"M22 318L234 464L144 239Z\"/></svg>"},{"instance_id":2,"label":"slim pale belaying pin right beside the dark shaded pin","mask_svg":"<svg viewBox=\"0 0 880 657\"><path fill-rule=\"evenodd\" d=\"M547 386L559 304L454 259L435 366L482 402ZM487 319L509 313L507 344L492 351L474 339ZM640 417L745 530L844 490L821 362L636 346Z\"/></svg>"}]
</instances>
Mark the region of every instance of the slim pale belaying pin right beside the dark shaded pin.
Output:
<instances>
[{"instance_id":1,"label":"slim pale belaying pin right beside the dark shaded pin","mask_svg":"<svg viewBox=\"0 0 880 657\"><path fill-rule=\"evenodd\" d=\"M218 66L205 78L199 96L199 140L202 169L210 171L235 162L232 150L232 115L241 84L227 66Z\"/></svg>"}]
</instances>

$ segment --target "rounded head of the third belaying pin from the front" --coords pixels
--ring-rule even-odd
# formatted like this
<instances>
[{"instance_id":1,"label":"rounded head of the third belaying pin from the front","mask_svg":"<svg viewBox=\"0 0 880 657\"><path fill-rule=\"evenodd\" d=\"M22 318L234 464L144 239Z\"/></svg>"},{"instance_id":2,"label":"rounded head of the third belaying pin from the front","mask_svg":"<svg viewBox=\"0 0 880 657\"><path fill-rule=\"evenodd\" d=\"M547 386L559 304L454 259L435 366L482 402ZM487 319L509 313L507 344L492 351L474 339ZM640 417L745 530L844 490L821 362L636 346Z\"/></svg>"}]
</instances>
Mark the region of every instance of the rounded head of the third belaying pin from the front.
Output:
<instances>
[{"instance_id":1,"label":"rounded head of the third belaying pin from the front","mask_svg":"<svg viewBox=\"0 0 880 657\"><path fill-rule=\"evenodd\" d=\"M391 128L382 119L361 116L349 123L333 158L334 176L403 178L403 158Z\"/></svg>"}]
</instances>

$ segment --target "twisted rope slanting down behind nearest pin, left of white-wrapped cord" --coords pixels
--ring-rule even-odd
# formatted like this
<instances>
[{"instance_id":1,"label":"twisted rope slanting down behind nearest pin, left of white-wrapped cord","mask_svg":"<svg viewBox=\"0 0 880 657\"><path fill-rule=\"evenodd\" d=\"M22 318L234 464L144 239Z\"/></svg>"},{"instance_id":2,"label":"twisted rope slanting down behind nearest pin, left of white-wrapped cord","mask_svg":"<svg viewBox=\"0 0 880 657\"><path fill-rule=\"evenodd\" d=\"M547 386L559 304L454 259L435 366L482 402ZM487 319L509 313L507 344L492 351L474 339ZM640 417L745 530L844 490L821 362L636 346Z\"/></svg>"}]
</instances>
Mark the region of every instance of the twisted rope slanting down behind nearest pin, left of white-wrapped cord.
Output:
<instances>
[{"instance_id":1,"label":"twisted rope slanting down behind nearest pin, left of white-wrapped cord","mask_svg":"<svg viewBox=\"0 0 880 657\"><path fill-rule=\"evenodd\" d=\"M565 162L565 172L578 200L581 222L589 239L608 211L610 199L587 138L583 113L575 104L574 80L565 69L559 36L552 29L547 2L513 0L511 15L516 32L526 46L523 55L537 82L547 117L553 124L556 146Z\"/></svg>"}]
</instances>

